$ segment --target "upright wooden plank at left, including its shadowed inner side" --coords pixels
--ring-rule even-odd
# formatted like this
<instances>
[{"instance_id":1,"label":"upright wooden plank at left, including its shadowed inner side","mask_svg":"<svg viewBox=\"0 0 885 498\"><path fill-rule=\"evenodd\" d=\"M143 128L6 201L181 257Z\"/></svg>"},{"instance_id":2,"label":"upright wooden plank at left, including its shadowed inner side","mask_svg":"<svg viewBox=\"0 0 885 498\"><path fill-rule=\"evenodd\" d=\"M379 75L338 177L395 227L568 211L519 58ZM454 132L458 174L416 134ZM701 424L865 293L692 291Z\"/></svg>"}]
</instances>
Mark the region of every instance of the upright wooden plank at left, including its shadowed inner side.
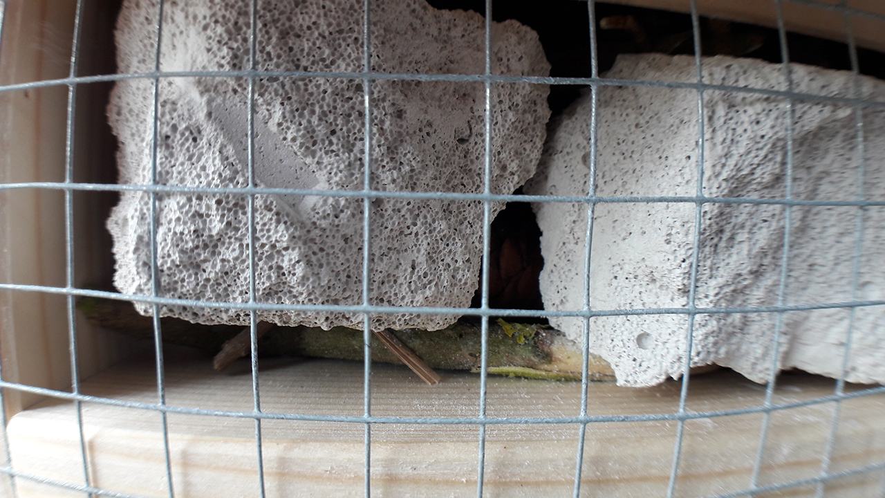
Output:
<instances>
[{"instance_id":1,"label":"upright wooden plank at left, including its shadowed inner side","mask_svg":"<svg viewBox=\"0 0 885 498\"><path fill-rule=\"evenodd\" d=\"M76 2L70 0L11 0L5 3L0 85L64 78L70 71L73 18ZM106 11L106 9L105 9ZM87 9L84 22L95 25ZM89 52L92 57L96 54ZM90 66L81 59L81 70ZM64 85L42 89L0 92L0 182L63 182L65 180L65 134L67 92ZM93 90L81 87L81 97ZM87 105L83 107L89 107ZM104 109L104 104L99 106ZM104 113L104 111L101 111ZM78 114L78 136L104 126L103 121L84 122L89 111ZM89 162L89 144L78 141L75 160ZM76 168L80 175L83 167ZM109 166L112 167L112 166ZM93 167L94 168L94 167ZM83 265L102 256L92 236L104 231L104 216L96 215L92 194L74 196L74 230L79 253L75 285L101 282L98 277L111 268L111 255L103 253L104 265ZM88 268L87 268L88 267ZM0 192L0 282L65 286L65 197L63 191L15 189ZM65 389L71 385L67 304L65 296L40 292L0 292L0 349L4 380L25 385ZM118 362L131 341L100 331L78 318L81 375L87 376ZM27 409L42 397L9 392L8 416Z\"/></svg>"}]
</instances>

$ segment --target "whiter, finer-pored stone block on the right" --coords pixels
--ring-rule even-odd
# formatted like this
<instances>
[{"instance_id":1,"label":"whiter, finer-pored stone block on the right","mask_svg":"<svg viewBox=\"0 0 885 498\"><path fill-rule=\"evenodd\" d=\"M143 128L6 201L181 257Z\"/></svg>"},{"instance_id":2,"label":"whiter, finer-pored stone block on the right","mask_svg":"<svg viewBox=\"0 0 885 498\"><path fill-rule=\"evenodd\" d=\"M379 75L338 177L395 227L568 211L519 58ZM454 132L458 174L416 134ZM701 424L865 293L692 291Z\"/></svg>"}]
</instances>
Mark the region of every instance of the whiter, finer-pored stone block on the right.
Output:
<instances>
[{"instance_id":1,"label":"whiter, finer-pored stone block on the right","mask_svg":"<svg viewBox=\"0 0 885 498\"><path fill-rule=\"evenodd\" d=\"M782 66L758 60L704 58L704 82L787 89ZM696 82L694 58L620 56L609 77ZM847 72L792 66L795 90L853 97ZM885 101L885 82L861 77L865 100ZM788 102L737 91L704 92L704 195L785 198ZM694 89L601 87L598 97L596 194L694 196L697 189L697 107ZM803 200L885 200L885 110L863 111L863 161L850 105L792 102L792 193ZM591 97L581 97L545 147L534 194L587 195ZM584 307L588 205L535 205L543 231L541 290L548 310ZM885 300L885 208L863 214L857 294L852 293L860 211L853 206L794 206L782 304L820 305ZM689 306L696 206L693 203L596 205L589 301L596 310ZM778 304L787 209L766 204L705 204L701 215L696 307ZM777 365L840 377L850 336L847 379L885 382L885 310L858 307L777 313L700 314L694 321L691 365L718 363L757 382L771 373L775 331L782 319ZM583 319L550 318L580 339ZM653 385L681 377L687 315L594 317L590 351L612 363L622 385Z\"/></svg>"}]
</instances>

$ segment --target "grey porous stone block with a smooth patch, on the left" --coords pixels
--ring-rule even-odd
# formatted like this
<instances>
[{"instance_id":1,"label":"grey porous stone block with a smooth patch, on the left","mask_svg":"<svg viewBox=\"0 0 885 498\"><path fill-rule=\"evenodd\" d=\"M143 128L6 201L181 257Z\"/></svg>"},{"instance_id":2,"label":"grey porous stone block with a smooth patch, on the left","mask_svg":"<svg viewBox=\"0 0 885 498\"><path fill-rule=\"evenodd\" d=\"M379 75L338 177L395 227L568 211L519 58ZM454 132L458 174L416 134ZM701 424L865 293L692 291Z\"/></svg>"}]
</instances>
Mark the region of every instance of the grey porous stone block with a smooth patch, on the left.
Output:
<instances>
[{"instance_id":1,"label":"grey porous stone block with a smooth patch, on the left","mask_svg":"<svg viewBox=\"0 0 885 498\"><path fill-rule=\"evenodd\" d=\"M258 1L256 66L266 71L363 70L359 2ZM150 72L156 0L127 0L117 26L120 73ZM250 66L249 3L166 2L163 71ZM388 74L484 74L484 19L438 11L422 0L373 2L372 67ZM494 25L494 74L547 75L537 35L515 21ZM354 78L262 77L255 84L259 186L355 191L364 182L364 89ZM248 85L231 77L164 78L158 85L157 182L248 184ZM485 89L481 82L375 81L372 188L483 191ZM534 174L549 119L548 88L496 84L492 191L511 193ZM108 109L119 137L119 182L150 183L153 82L121 81ZM159 194L160 295L249 301L248 199ZM495 214L503 206L493 206ZM375 199L370 211L371 303L468 307L481 266L482 203ZM256 300L360 305L363 199L258 195ZM151 294L150 195L123 192L108 221L121 292ZM150 314L150 307L139 305ZM242 309L161 307L199 323L248 323ZM362 315L260 312L279 324L362 325ZM373 315L375 329L441 329L455 315Z\"/></svg>"}]
</instances>

